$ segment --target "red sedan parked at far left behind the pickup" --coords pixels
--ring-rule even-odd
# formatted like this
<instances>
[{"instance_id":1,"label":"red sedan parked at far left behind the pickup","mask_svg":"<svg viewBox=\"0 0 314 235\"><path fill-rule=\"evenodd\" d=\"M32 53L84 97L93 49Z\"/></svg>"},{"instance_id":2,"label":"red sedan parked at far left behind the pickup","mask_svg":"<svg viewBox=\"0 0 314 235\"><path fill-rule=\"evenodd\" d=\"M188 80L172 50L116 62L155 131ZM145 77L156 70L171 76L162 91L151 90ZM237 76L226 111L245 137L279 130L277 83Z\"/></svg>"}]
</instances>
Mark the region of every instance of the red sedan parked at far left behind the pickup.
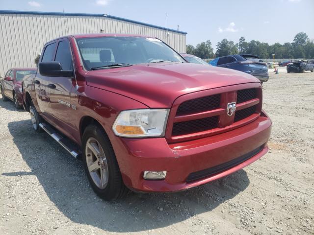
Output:
<instances>
[{"instance_id":1,"label":"red sedan parked at far left behind the pickup","mask_svg":"<svg viewBox=\"0 0 314 235\"><path fill-rule=\"evenodd\" d=\"M0 90L3 101L12 100L16 109L23 107L22 80L24 76L36 72L36 68L13 68L5 73Z\"/></svg>"}]
</instances>

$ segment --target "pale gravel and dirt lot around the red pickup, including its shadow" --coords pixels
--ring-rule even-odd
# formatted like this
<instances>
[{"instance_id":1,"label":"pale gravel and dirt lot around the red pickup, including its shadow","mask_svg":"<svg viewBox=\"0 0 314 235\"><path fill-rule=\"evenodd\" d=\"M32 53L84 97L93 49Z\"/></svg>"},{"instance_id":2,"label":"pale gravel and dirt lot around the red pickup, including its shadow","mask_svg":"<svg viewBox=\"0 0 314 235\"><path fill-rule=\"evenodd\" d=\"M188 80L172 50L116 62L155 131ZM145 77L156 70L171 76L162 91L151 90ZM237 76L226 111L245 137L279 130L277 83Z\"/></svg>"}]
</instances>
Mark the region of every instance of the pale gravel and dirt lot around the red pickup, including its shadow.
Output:
<instances>
[{"instance_id":1,"label":"pale gravel and dirt lot around the red pickup, including its shadow","mask_svg":"<svg viewBox=\"0 0 314 235\"><path fill-rule=\"evenodd\" d=\"M0 100L0 234L314 234L314 73L269 70L261 160L201 188L105 202L82 163Z\"/></svg>"}]
</instances>

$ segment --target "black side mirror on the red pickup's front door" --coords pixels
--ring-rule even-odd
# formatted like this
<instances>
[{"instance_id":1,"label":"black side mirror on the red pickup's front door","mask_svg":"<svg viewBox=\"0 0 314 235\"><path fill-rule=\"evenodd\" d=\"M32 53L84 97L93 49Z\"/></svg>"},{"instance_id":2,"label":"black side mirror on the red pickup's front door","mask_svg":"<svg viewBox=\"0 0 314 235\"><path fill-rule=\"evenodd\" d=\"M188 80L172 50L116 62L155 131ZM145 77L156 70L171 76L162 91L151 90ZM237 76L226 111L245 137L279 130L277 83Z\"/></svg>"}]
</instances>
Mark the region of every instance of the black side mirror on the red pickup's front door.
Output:
<instances>
[{"instance_id":1,"label":"black side mirror on the red pickup's front door","mask_svg":"<svg viewBox=\"0 0 314 235\"><path fill-rule=\"evenodd\" d=\"M38 64L39 73L48 77L72 77L73 71L62 70L60 62L40 62Z\"/></svg>"}]
</instances>

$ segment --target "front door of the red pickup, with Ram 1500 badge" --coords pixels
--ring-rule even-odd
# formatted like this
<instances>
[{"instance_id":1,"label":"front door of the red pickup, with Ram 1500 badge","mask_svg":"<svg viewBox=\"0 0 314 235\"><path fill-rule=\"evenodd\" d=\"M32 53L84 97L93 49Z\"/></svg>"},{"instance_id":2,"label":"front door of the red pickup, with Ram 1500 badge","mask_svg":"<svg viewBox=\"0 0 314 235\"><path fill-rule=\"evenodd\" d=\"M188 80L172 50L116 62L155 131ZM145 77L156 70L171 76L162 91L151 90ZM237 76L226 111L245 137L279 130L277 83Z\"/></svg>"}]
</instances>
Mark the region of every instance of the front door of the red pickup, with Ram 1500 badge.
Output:
<instances>
[{"instance_id":1,"label":"front door of the red pickup, with Ram 1500 badge","mask_svg":"<svg viewBox=\"0 0 314 235\"><path fill-rule=\"evenodd\" d=\"M62 70L73 71L72 54L68 39L58 41L54 61L60 62ZM71 77L51 77L50 87L50 114L56 127L68 130L70 125L71 90L74 88Z\"/></svg>"}]
</instances>

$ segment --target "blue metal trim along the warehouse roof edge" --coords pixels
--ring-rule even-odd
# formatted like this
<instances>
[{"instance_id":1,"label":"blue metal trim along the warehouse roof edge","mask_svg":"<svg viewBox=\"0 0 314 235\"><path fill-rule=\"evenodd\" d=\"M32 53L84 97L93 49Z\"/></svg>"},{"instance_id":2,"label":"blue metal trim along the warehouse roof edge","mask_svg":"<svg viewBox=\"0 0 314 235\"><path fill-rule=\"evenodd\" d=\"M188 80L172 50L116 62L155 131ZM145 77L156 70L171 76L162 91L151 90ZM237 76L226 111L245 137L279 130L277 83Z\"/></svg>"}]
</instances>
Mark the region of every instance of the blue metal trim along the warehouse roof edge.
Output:
<instances>
[{"instance_id":1,"label":"blue metal trim along the warehouse roof edge","mask_svg":"<svg viewBox=\"0 0 314 235\"><path fill-rule=\"evenodd\" d=\"M11 11L11 10L0 10L0 14L107 17L107 18L111 18L111 19L115 19L115 20L119 20L119 21L130 22L130 23L133 23L133 24L141 24L141 25L145 25L145 26L149 26L149 27L153 27L153 28L168 30L168 31L171 31L171 32L187 34L186 32L183 32L183 31L178 31L178 30L174 30L174 29L170 29L170 28L167 29L165 27L157 26L157 25L154 25L154 24L146 24L146 23L142 23L142 22L139 22L139 21L132 21L132 20L129 20L129 19L125 19L125 18L122 18L122 17L110 16L110 15L107 15L107 14L63 13L63 12L43 12L43 11Z\"/></svg>"}]
</instances>

